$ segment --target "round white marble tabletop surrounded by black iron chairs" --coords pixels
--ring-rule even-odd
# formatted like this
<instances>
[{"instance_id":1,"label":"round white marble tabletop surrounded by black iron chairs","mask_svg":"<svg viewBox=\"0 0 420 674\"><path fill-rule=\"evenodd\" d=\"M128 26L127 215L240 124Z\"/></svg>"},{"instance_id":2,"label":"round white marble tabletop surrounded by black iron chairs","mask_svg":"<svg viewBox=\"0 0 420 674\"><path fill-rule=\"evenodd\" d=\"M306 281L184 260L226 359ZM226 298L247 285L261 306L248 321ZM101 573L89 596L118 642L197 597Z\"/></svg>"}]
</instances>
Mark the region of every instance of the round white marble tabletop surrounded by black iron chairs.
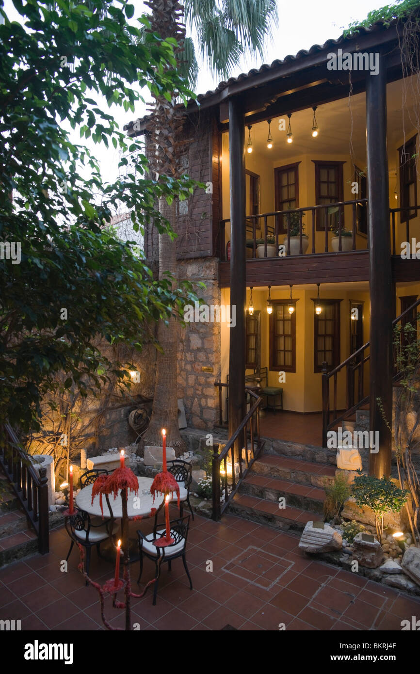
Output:
<instances>
[{"instance_id":1,"label":"round white marble tabletop surrounded by black iron chairs","mask_svg":"<svg viewBox=\"0 0 420 674\"><path fill-rule=\"evenodd\" d=\"M153 503L153 497L150 493L150 487L152 486L153 479L151 477L138 477L139 491L136 495L133 491L128 492L127 499L127 514L131 517L136 517L139 515L147 516L150 514L152 508L158 508L160 503L162 503L162 498L156 497ZM80 510L85 510L90 515L102 516L100 512L99 505L99 496L95 496L92 503L92 489L93 484L88 485L81 489L78 495L76 496L76 505ZM109 503L113 511L113 516L115 520L121 519L123 516L123 508L121 505L121 496L118 495L114 501L113 495L109 495ZM107 499L102 496L102 508L104 511L104 518L111 517L109 508L107 505Z\"/></svg>"}]
</instances>

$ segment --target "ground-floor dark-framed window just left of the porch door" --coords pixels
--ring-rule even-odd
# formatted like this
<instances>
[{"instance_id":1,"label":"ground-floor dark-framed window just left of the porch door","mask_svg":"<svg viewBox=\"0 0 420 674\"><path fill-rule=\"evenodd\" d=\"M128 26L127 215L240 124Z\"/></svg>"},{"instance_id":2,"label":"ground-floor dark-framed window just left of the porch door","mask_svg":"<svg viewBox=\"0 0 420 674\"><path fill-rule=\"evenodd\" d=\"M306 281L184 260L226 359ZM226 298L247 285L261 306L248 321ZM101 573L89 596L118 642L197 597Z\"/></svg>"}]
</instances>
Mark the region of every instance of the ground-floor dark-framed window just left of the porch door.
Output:
<instances>
[{"instance_id":1,"label":"ground-floor dark-framed window just left of the porch door","mask_svg":"<svg viewBox=\"0 0 420 674\"><path fill-rule=\"evenodd\" d=\"M317 300L313 299L313 303ZM340 364L340 299L324 299L320 301L322 312L314 317L314 372L322 371L322 363L327 363L327 370Z\"/></svg>"}]
</instances>

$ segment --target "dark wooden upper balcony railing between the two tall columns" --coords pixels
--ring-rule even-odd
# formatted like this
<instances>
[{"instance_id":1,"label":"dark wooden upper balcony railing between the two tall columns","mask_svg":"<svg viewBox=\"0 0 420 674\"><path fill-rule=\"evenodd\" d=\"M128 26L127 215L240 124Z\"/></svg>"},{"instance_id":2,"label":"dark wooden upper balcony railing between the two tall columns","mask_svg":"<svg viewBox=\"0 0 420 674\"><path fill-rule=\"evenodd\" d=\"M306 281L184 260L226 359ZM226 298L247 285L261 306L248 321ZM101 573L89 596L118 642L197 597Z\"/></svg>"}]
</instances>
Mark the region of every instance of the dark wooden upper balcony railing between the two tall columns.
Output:
<instances>
[{"instance_id":1,"label":"dark wooden upper balcony railing between the two tall columns","mask_svg":"<svg viewBox=\"0 0 420 674\"><path fill-rule=\"evenodd\" d=\"M259 213L256 215L247 216L247 247L252 250L252 257L272 257L268 255L267 246L274 245L276 255L278 255L279 246L284 245L286 248L286 255L293 254L291 251L291 237L299 238L299 255L303 255L305 241L305 228L311 231L311 253L330 253L332 251L330 237L328 234L332 231L337 232L338 237L338 251L344 249L343 240L351 241L351 250L356 250L356 235L357 235L357 208L366 208L367 199L359 199L357 201L351 200L346 202L336 202L335 204L322 204L320 206L307 206L305 208L294 208L292 210L273 211L270 213ZM351 210L351 230L344 227L344 212ZM308 214L309 222L303 222L305 214ZM297 217L296 217L297 214ZM346 222L349 221L350 214L347 213ZM299 222L296 222L296 220ZM294 222L293 222L293 221ZM227 259L227 251L224 245L226 224L231 222L230 218L220 221L219 224L219 241L220 260ZM321 229L317 229L320 226ZM296 231L296 235L292 235L292 231ZM324 234L323 250L317 250L316 232ZM351 231L351 236L346 235L346 232ZM318 239L319 241L319 239ZM264 255L257 251L258 245L264 245ZM319 246L318 246L319 247ZM347 246L346 246L347 249Z\"/></svg>"}]
</instances>

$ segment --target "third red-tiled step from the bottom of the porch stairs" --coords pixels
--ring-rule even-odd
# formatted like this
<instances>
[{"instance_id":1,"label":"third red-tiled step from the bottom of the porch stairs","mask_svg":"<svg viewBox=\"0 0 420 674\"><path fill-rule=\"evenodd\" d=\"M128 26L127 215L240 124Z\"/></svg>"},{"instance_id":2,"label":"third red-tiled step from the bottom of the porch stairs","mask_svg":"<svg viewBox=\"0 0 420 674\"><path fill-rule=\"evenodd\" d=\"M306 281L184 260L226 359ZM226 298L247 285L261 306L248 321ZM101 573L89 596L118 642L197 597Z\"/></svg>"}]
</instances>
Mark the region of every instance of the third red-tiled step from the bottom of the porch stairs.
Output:
<instances>
[{"instance_id":1,"label":"third red-tiled step from the bottom of the porch stairs","mask_svg":"<svg viewBox=\"0 0 420 674\"><path fill-rule=\"evenodd\" d=\"M280 478L299 485L312 485L312 487L324 487L324 481L331 484L336 466L300 461L289 456L274 456L263 454L252 464L253 472L264 477Z\"/></svg>"}]
</instances>

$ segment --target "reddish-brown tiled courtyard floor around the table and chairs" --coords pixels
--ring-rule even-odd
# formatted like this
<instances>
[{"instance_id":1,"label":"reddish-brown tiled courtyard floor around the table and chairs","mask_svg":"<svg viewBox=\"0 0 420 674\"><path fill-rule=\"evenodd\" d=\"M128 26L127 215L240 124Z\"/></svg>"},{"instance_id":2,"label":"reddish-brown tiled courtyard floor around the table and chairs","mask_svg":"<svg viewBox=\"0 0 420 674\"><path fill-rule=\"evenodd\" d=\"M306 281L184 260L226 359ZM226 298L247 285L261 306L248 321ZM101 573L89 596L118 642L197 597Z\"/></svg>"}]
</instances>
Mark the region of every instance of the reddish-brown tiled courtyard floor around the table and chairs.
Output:
<instances>
[{"instance_id":1,"label":"reddish-brown tiled courtyard floor around the table and chairs","mask_svg":"<svg viewBox=\"0 0 420 674\"><path fill-rule=\"evenodd\" d=\"M172 509L172 516L176 516ZM138 523L131 522L131 535ZM142 522L147 533L150 520ZM420 618L420 601L332 565L305 557L299 537L228 514L222 522L196 515L191 521L187 563L162 568L158 599L150 589L133 600L133 623L141 630L396 630L403 619ZM69 539L65 528L51 532L49 555L35 555L0 570L0 619L21 620L22 630L103 630L98 595L77 571L78 553L60 570ZM206 571L210 568L212 571ZM138 590L138 562L131 565ZM91 576L104 582L113 564L92 551ZM145 560L142 581L154 575ZM144 584L140 585L144 588ZM123 611L106 608L114 627Z\"/></svg>"}]
</instances>

